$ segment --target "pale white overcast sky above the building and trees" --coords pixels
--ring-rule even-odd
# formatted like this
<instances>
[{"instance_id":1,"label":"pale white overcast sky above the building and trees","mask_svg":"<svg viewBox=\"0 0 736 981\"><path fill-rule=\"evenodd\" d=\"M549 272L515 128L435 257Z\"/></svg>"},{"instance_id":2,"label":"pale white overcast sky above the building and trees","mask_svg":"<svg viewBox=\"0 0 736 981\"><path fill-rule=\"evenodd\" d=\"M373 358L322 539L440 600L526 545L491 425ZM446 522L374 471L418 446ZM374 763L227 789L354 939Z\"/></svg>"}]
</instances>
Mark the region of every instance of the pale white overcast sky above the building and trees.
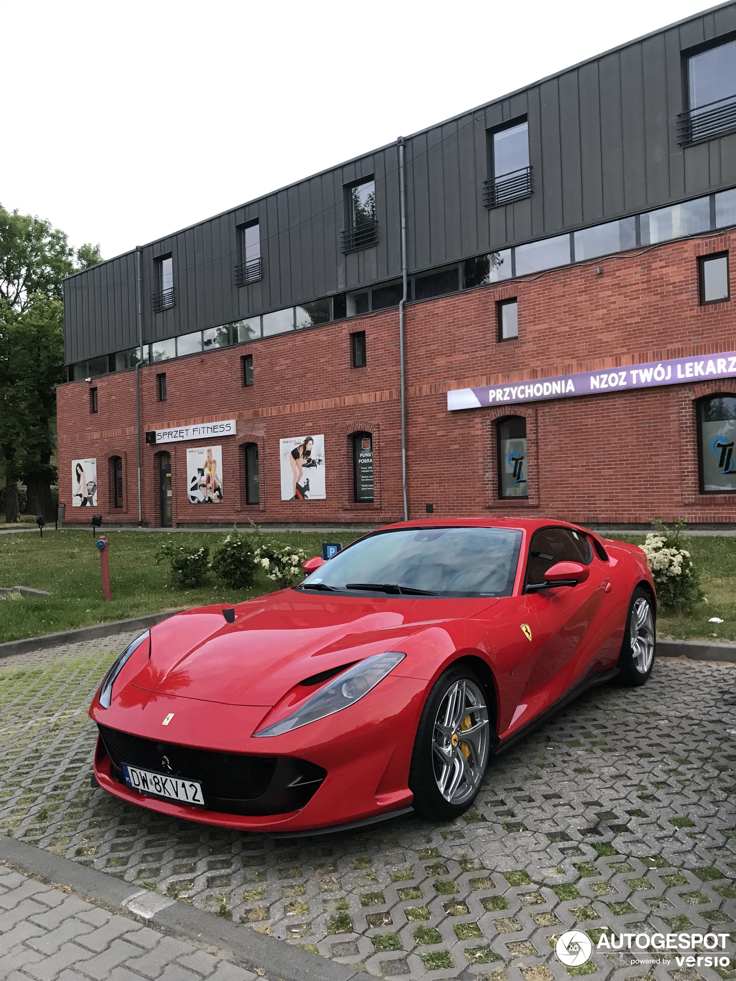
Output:
<instances>
[{"instance_id":1,"label":"pale white overcast sky above the building and trees","mask_svg":"<svg viewBox=\"0 0 736 981\"><path fill-rule=\"evenodd\" d=\"M710 6L0 0L0 203L110 258Z\"/></svg>"}]
</instances>

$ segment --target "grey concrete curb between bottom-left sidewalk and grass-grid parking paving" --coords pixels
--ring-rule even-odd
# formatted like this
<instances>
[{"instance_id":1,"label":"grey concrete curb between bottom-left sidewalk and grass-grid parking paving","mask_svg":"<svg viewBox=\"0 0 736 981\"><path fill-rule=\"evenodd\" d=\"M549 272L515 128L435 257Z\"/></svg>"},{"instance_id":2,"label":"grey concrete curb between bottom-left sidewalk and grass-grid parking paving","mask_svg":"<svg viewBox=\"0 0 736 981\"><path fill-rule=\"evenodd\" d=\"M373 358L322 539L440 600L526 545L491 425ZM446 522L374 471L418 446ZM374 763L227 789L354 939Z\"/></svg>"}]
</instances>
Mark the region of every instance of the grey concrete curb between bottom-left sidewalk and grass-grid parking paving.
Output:
<instances>
[{"instance_id":1,"label":"grey concrete curb between bottom-left sidewalk and grass-grid parking paving","mask_svg":"<svg viewBox=\"0 0 736 981\"><path fill-rule=\"evenodd\" d=\"M350 981L358 972L335 960L310 954L286 941L240 926L196 906L178 903L160 893L134 885L71 858L27 845L16 838L0 838L0 858L26 875L50 886L69 886L82 899L143 921L170 936L199 946L204 940L227 960L280 981ZM364 977L364 975L360 975Z\"/></svg>"}]
</instances>

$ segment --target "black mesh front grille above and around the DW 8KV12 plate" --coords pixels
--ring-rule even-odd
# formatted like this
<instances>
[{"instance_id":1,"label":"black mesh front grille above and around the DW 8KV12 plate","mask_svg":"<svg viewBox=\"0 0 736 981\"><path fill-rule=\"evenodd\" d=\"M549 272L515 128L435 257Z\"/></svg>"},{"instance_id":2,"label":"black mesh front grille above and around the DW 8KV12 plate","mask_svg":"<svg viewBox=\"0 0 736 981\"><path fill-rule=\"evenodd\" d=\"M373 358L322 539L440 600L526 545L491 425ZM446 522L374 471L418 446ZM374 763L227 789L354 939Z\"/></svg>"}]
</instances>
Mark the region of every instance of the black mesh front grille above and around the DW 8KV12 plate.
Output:
<instances>
[{"instance_id":1,"label":"black mesh front grille above and around the DW 8KV12 plate","mask_svg":"<svg viewBox=\"0 0 736 981\"><path fill-rule=\"evenodd\" d=\"M118 768L121 763L130 763L144 770L168 773L162 764L162 758L166 756L176 776L201 781L205 800L259 798L268 790L276 769L275 756L243 756L240 753L191 749L142 739L106 726L98 728L105 749Z\"/></svg>"}]
</instances>

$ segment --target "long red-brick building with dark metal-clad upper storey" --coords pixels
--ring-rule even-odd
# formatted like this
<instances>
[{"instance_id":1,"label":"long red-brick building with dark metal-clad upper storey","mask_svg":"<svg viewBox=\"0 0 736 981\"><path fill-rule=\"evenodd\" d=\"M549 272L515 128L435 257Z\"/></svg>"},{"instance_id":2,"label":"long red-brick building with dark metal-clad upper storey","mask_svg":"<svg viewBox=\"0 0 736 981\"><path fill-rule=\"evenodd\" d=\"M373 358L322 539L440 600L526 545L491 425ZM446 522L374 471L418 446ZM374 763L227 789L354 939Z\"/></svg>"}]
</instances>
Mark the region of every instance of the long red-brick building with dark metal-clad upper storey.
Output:
<instances>
[{"instance_id":1,"label":"long red-brick building with dark metal-clad upper storey","mask_svg":"<svg viewBox=\"0 0 736 981\"><path fill-rule=\"evenodd\" d=\"M728 3L67 280L67 523L400 519L402 390L411 518L734 523L734 244Z\"/></svg>"}]
</instances>

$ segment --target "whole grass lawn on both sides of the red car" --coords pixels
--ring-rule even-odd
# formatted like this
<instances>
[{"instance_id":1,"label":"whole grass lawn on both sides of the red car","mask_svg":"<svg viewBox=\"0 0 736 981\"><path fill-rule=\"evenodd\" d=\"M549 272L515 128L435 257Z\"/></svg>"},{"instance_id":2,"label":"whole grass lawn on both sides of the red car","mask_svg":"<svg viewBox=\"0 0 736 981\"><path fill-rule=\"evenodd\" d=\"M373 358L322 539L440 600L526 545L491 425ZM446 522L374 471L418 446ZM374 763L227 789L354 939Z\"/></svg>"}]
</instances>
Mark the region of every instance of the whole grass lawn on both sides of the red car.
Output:
<instances>
[{"instance_id":1,"label":"whole grass lawn on both sides of the red car","mask_svg":"<svg viewBox=\"0 0 736 981\"><path fill-rule=\"evenodd\" d=\"M205 544L212 555L227 532L171 535L110 531L107 535L113 593L107 603L102 599L99 554L94 547L96 537L91 532L50 532L43 539L37 532L0 536L0 586L30 586L52 594L45 599L0 599L0 641L37 637L184 606L238 602L274 589L274 584L264 576L251 590L229 590L210 573L201 589L180 590L172 583L168 564L155 564L156 549L167 539L194 547ZM303 548L307 555L318 555L323 539L334 540L336 533L263 532L259 538L263 542ZM356 536L345 533L337 538L347 544ZM635 544L644 542L641 535L611 538ZM736 640L736 537L693 538L685 547L690 549L702 572L708 602L702 603L692 617L661 614L657 624L659 637ZM720 617L723 623L709 623L711 616Z\"/></svg>"}]
</instances>

